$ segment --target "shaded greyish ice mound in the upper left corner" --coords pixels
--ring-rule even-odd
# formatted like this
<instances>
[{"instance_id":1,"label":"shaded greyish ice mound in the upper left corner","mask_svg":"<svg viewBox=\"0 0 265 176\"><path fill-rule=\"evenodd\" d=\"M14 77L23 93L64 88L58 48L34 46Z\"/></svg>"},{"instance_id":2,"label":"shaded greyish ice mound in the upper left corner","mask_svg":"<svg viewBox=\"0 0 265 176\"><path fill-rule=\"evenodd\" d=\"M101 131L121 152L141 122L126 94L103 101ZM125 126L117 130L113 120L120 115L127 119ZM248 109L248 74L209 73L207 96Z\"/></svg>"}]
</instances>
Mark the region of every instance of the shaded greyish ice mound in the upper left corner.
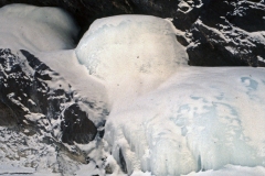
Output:
<instances>
[{"instance_id":1,"label":"shaded greyish ice mound in the upper left corner","mask_svg":"<svg viewBox=\"0 0 265 176\"><path fill-rule=\"evenodd\" d=\"M31 52L73 48L78 29L57 8L10 4L0 9L0 47Z\"/></svg>"}]
</instances>

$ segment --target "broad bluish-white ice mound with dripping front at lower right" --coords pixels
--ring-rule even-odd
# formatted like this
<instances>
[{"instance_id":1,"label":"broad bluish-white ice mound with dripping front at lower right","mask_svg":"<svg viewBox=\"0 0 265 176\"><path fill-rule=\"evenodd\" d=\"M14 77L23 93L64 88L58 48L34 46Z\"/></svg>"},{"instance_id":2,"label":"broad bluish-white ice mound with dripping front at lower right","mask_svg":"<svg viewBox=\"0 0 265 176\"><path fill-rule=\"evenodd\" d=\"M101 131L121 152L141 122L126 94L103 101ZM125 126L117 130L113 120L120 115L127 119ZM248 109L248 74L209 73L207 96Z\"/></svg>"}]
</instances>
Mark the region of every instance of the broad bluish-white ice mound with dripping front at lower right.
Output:
<instances>
[{"instance_id":1,"label":"broad bluish-white ice mound with dripping front at lower right","mask_svg":"<svg viewBox=\"0 0 265 176\"><path fill-rule=\"evenodd\" d=\"M129 174L265 166L264 69L187 67L113 107L105 139ZM120 157L123 155L123 157Z\"/></svg>"}]
</instances>

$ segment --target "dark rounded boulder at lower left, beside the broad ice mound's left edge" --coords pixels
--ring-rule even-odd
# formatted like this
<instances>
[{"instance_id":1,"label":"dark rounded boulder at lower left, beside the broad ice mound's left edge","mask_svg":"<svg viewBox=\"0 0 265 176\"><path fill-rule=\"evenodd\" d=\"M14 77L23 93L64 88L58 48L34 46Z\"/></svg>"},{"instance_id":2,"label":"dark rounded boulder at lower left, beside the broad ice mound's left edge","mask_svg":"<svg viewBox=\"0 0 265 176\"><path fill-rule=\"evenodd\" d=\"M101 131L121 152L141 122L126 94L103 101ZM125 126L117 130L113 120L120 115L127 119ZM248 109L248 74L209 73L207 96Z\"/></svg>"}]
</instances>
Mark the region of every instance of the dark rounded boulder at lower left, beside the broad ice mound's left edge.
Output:
<instances>
[{"instance_id":1,"label":"dark rounded boulder at lower left, beside the broad ice mound's left edge","mask_svg":"<svg viewBox=\"0 0 265 176\"><path fill-rule=\"evenodd\" d=\"M88 119L86 112L82 111L78 105L74 103L66 108L61 124L62 141L64 143L86 144L93 141L97 134L97 128Z\"/></svg>"}]
</instances>

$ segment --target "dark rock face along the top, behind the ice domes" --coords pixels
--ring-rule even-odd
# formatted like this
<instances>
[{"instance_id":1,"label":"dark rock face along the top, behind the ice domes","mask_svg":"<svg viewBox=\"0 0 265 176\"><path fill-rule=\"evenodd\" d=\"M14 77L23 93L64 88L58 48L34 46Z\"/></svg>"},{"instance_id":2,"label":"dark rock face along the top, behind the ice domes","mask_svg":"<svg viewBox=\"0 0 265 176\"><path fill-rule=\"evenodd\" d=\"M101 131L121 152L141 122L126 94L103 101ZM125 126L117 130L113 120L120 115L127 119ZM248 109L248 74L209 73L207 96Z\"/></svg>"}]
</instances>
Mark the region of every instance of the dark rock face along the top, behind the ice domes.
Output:
<instances>
[{"instance_id":1,"label":"dark rock face along the top, behind the ice domes","mask_svg":"<svg viewBox=\"0 0 265 176\"><path fill-rule=\"evenodd\" d=\"M150 14L171 18L184 32L177 36L188 46L194 66L265 66L264 0L0 0L8 3L61 7L72 13L83 31L98 18Z\"/></svg>"}]
</instances>

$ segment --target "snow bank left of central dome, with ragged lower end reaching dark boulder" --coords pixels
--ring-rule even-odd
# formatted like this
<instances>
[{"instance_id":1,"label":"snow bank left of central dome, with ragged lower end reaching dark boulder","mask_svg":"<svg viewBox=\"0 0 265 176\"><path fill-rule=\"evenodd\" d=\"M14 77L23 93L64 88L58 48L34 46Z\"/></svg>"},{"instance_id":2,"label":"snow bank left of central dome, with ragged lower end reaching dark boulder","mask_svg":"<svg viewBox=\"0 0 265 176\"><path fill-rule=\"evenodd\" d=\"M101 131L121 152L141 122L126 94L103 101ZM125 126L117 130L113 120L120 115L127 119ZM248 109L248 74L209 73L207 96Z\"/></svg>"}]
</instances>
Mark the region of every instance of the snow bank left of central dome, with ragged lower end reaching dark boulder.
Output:
<instances>
[{"instance_id":1,"label":"snow bank left of central dome, with ragged lower end reaching dark boulder","mask_svg":"<svg viewBox=\"0 0 265 176\"><path fill-rule=\"evenodd\" d=\"M78 106L96 125L100 123L104 120L104 116L99 116L102 109L108 109L105 85L98 78L91 76L86 67L78 63L75 51L42 52L38 56L52 70L60 73L60 77L53 77L52 82L47 82L49 87L56 88L61 85L66 90L71 87L74 90L74 99L94 105L93 110L88 105L80 103Z\"/></svg>"}]
</instances>

